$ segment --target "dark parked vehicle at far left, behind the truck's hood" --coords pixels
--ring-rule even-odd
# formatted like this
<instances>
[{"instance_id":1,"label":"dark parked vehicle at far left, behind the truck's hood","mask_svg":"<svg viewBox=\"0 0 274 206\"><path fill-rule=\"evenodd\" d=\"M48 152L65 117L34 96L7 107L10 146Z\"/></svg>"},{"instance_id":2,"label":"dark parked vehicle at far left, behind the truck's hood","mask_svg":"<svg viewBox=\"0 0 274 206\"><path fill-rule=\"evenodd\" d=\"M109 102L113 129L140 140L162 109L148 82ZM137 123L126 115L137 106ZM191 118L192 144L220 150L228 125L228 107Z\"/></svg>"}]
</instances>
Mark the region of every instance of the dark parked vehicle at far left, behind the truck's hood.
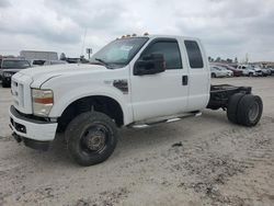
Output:
<instances>
[{"instance_id":1,"label":"dark parked vehicle at far left, behind the truck's hood","mask_svg":"<svg viewBox=\"0 0 274 206\"><path fill-rule=\"evenodd\" d=\"M2 87L8 88L11 85L11 77L22 69L30 68L31 65L27 60L16 58L0 59L0 79Z\"/></svg>"}]
</instances>

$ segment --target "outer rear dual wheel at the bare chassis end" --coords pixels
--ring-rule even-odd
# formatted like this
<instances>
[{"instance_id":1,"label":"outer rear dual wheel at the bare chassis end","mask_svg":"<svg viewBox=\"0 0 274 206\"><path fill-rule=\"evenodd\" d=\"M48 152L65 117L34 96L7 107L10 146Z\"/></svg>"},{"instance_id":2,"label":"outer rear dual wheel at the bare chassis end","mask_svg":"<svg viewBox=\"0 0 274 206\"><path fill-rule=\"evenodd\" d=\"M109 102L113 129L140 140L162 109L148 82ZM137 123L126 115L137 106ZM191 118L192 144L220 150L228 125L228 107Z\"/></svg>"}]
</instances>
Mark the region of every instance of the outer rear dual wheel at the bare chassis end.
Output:
<instances>
[{"instance_id":1,"label":"outer rear dual wheel at the bare chassis end","mask_svg":"<svg viewBox=\"0 0 274 206\"><path fill-rule=\"evenodd\" d=\"M261 119L262 112L262 99L258 95L247 94L239 102L237 121L243 126L255 126Z\"/></svg>"}]
</instances>

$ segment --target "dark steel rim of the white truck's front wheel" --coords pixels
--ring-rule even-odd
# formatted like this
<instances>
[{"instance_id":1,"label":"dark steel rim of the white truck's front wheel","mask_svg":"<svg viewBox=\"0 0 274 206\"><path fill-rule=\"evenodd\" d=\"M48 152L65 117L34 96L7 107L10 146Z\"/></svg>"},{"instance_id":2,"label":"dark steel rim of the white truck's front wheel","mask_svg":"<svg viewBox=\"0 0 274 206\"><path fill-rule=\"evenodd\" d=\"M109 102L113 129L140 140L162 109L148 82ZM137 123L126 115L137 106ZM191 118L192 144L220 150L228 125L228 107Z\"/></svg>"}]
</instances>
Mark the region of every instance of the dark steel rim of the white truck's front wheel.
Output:
<instances>
[{"instance_id":1,"label":"dark steel rim of the white truck's front wheel","mask_svg":"<svg viewBox=\"0 0 274 206\"><path fill-rule=\"evenodd\" d=\"M106 148L109 136L109 128L102 124L88 126L81 135L80 147L89 154L102 153Z\"/></svg>"}]
</instances>

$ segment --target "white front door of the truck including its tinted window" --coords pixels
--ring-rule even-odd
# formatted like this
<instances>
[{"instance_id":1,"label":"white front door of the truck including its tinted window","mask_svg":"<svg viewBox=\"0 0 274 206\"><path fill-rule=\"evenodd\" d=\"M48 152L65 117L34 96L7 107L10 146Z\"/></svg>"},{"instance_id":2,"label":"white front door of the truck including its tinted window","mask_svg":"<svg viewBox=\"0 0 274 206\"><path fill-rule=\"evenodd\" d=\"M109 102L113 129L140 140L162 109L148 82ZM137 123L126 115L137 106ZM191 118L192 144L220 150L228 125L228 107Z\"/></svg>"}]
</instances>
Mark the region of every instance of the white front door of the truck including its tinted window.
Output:
<instances>
[{"instance_id":1,"label":"white front door of the truck including its tinted window","mask_svg":"<svg viewBox=\"0 0 274 206\"><path fill-rule=\"evenodd\" d=\"M132 65L132 105L134 121L175 115L184 112L187 104L187 69L183 68L181 47L176 38L155 38L138 58L162 54L164 72L135 76Z\"/></svg>"}]
</instances>

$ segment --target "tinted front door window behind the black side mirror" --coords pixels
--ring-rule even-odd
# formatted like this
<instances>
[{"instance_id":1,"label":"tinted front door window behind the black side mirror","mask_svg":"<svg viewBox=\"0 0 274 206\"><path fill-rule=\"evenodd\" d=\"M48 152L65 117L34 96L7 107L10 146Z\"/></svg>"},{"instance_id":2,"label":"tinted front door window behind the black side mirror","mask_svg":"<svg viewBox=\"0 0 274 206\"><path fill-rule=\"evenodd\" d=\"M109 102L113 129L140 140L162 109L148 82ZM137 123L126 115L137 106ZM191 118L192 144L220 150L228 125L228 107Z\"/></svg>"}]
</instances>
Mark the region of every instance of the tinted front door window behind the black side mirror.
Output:
<instances>
[{"instance_id":1,"label":"tinted front door window behind the black side mirror","mask_svg":"<svg viewBox=\"0 0 274 206\"><path fill-rule=\"evenodd\" d=\"M142 53L144 56L162 54L167 69L182 69L181 53L176 41L156 42Z\"/></svg>"}]
</instances>

